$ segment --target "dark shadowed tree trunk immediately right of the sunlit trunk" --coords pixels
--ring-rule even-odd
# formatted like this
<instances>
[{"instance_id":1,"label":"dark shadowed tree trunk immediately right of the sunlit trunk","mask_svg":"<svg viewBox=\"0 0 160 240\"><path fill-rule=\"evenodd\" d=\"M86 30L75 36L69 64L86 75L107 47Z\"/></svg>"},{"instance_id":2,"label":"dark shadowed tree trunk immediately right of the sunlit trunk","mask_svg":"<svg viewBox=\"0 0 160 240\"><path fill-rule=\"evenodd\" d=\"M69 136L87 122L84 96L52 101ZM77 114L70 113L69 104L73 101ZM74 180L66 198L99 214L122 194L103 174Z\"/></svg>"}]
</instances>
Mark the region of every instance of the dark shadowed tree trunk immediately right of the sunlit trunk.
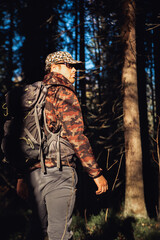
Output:
<instances>
[{"instance_id":1,"label":"dark shadowed tree trunk immediately right of the sunlit trunk","mask_svg":"<svg viewBox=\"0 0 160 240\"><path fill-rule=\"evenodd\" d=\"M140 132L142 141L142 159L144 173L144 193L146 198L147 209L151 212L154 205L153 179L154 173L150 161L150 144L149 144L149 122L147 109L147 78L146 78L146 52L145 52L145 12L143 9L144 0L138 1L136 5L136 46L137 46L137 77L138 77L138 97L139 97L139 113L140 113ZM150 44L152 45L152 44ZM148 46L152 47L152 46ZM147 49L149 51L149 49ZM148 52L147 51L147 52ZM151 51L151 50L150 50ZM152 81L152 79L151 79ZM154 107L153 107L154 109ZM150 177L148 177L150 176Z\"/></svg>"}]
</instances>

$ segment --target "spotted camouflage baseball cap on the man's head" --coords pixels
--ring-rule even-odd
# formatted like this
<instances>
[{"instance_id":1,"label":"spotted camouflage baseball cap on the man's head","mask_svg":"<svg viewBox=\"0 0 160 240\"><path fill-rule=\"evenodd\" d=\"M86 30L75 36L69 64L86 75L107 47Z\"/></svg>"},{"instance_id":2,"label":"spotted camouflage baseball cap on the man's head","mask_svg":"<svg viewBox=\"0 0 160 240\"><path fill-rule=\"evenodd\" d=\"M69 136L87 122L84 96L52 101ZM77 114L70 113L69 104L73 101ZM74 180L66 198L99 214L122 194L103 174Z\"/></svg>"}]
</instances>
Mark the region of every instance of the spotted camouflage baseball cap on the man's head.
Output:
<instances>
[{"instance_id":1,"label":"spotted camouflage baseball cap on the man's head","mask_svg":"<svg viewBox=\"0 0 160 240\"><path fill-rule=\"evenodd\" d=\"M54 53L50 53L45 61L45 70L50 70L52 63L69 63L69 64L80 64L81 61L74 60L70 53L58 51Z\"/></svg>"}]
</instances>

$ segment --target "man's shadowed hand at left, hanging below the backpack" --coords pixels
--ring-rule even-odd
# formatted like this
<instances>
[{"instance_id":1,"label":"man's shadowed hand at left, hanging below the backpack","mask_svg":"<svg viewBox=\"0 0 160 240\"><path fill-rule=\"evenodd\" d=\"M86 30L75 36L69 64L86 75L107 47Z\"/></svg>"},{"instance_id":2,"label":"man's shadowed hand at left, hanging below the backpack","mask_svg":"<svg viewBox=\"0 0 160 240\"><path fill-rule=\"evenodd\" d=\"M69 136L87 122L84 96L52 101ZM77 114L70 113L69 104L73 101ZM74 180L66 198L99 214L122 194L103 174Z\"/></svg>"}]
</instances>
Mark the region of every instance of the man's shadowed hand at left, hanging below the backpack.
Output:
<instances>
[{"instance_id":1,"label":"man's shadowed hand at left, hanging below the backpack","mask_svg":"<svg viewBox=\"0 0 160 240\"><path fill-rule=\"evenodd\" d=\"M28 198L28 186L24 179L18 179L16 190L19 197L24 200Z\"/></svg>"}]
</instances>

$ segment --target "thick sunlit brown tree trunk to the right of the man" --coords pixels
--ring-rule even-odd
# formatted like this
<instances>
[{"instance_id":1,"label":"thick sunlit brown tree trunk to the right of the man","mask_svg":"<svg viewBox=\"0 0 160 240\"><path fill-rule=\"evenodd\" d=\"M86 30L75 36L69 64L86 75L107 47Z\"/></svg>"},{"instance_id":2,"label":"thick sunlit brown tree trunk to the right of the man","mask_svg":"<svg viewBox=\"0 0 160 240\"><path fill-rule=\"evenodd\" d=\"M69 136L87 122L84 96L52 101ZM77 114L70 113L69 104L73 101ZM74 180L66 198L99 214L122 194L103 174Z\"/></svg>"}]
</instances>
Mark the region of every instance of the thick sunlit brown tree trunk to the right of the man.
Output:
<instances>
[{"instance_id":1,"label":"thick sunlit brown tree trunk to the right of the man","mask_svg":"<svg viewBox=\"0 0 160 240\"><path fill-rule=\"evenodd\" d=\"M142 148L138 108L135 1L123 6L122 41L125 44L122 84L124 88L124 137L126 158L126 187L124 215L147 217L142 174Z\"/></svg>"}]
</instances>

